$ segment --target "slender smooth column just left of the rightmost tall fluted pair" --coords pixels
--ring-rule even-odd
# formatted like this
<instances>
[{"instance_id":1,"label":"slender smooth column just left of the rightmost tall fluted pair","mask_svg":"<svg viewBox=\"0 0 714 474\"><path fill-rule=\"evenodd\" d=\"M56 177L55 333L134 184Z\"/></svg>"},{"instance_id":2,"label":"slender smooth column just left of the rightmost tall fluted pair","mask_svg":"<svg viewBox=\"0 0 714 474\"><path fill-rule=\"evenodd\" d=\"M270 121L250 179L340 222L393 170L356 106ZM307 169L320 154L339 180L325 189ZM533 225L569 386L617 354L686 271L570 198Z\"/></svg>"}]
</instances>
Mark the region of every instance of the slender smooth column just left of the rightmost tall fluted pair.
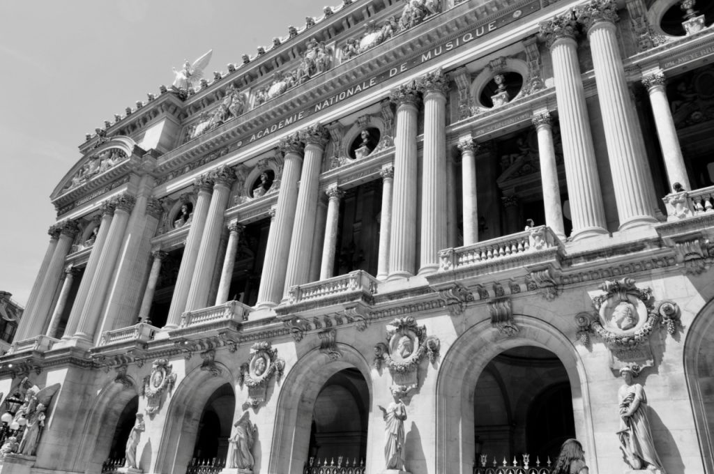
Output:
<instances>
[{"instance_id":1,"label":"slender smooth column just left of the rightmost tall fluted pair","mask_svg":"<svg viewBox=\"0 0 714 474\"><path fill-rule=\"evenodd\" d=\"M540 161L540 181L543 186L543 208L545 225L553 229L555 235L565 241L563 206L560 203L560 183L558 166L555 163L555 144L550 114L543 112L533 117L533 125L538 134L538 158Z\"/></svg>"}]
</instances>

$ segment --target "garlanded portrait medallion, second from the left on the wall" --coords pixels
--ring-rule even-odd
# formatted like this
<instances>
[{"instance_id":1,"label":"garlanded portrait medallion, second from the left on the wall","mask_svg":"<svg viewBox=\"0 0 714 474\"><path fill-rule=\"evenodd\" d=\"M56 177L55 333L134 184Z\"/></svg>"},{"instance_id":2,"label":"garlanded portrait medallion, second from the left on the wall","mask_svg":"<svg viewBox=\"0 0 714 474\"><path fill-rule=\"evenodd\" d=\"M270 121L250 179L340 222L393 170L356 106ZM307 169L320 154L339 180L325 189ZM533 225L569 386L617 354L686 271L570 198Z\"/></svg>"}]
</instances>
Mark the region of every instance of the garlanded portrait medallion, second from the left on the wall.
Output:
<instances>
[{"instance_id":1,"label":"garlanded portrait medallion, second from the left on the wall","mask_svg":"<svg viewBox=\"0 0 714 474\"><path fill-rule=\"evenodd\" d=\"M276 382L280 383L283 370L285 360L278 358L278 350L273 349L270 342L253 344L248 362L241 365L240 385L248 386L248 400L243 407L257 407L263 403L267 398L268 382L275 375Z\"/></svg>"}]
</instances>

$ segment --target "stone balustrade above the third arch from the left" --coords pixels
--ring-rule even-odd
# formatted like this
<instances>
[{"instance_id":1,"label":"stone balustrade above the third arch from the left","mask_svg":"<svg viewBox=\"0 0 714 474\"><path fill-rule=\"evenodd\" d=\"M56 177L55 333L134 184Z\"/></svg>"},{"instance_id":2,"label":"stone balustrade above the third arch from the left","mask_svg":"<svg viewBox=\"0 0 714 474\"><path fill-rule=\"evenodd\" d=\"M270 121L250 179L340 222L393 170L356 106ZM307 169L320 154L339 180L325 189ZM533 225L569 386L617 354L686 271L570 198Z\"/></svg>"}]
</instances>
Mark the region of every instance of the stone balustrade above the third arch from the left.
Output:
<instances>
[{"instance_id":1,"label":"stone balustrade above the third arch from the left","mask_svg":"<svg viewBox=\"0 0 714 474\"><path fill-rule=\"evenodd\" d=\"M366 271L352 271L326 280L291 286L288 291L288 304L296 305L351 293L373 295L377 293L377 284L378 280Z\"/></svg>"}]
</instances>

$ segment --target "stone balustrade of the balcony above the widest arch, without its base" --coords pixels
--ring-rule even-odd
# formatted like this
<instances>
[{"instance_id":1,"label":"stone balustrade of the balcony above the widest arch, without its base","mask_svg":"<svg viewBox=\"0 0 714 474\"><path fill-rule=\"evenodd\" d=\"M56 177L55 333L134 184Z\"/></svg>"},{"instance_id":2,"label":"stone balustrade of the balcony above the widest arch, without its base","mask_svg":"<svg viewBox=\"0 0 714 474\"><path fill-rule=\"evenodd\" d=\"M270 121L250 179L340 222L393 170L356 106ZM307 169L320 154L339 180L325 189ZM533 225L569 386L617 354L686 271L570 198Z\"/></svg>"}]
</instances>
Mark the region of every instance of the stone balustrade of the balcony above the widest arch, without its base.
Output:
<instances>
[{"instance_id":1,"label":"stone balustrade of the balcony above the widest arch, without its base","mask_svg":"<svg viewBox=\"0 0 714 474\"><path fill-rule=\"evenodd\" d=\"M439 252L441 258L439 271L458 270L480 263L496 263L498 260L511 256L526 255L562 246L563 243L555 236L550 227L538 226L528 231L492 238L470 246L446 248Z\"/></svg>"}]
</instances>

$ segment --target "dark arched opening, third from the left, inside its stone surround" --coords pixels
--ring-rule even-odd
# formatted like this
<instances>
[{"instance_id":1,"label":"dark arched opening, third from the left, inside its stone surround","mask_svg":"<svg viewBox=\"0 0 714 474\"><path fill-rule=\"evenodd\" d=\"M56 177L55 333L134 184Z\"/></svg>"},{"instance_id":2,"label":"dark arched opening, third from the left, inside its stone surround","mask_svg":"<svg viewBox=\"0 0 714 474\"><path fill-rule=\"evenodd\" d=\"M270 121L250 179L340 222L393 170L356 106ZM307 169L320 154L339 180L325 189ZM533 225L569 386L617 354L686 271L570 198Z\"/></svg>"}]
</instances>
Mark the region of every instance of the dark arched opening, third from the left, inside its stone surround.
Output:
<instances>
[{"instance_id":1,"label":"dark arched opening, third from the left, inside its stone surround","mask_svg":"<svg viewBox=\"0 0 714 474\"><path fill-rule=\"evenodd\" d=\"M347 368L332 375L315 400L308 462L342 458L361 464L367 454L367 382L359 370Z\"/></svg>"}]
</instances>

